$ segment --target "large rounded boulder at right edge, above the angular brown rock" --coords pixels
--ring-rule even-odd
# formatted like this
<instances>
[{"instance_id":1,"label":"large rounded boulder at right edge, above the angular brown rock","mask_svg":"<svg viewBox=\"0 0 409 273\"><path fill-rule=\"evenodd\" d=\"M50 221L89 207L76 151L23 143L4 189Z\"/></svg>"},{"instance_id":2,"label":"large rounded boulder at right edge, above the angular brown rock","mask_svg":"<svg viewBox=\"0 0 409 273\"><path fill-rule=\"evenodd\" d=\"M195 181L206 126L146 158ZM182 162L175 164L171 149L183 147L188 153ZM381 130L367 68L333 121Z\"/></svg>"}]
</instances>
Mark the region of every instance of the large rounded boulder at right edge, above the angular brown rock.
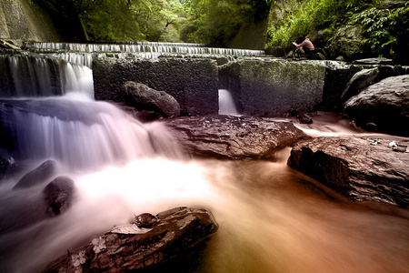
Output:
<instances>
[{"instance_id":1,"label":"large rounded boulder at right edge, above the angular brown rock","mask_svg":"<svg viewBox=\"0 0 409 273\"><path fill-rule=\"evenodd\" d=\"M365 129L409 136L409 75L365 88L345 103L344 114Z\"/></svg>"}]
</instances>

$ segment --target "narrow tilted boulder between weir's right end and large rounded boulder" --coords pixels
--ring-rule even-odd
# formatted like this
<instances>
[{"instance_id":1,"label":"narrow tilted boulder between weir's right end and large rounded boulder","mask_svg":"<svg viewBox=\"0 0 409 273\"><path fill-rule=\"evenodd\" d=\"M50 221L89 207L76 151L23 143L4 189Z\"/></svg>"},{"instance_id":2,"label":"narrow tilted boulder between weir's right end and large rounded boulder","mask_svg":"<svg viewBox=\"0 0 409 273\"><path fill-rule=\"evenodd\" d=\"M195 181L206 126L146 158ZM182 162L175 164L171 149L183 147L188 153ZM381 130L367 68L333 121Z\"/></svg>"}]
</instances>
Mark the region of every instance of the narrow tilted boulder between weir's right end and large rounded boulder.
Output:
<instances>
[{"instance_id":1,"label":"narrow tilted boulder between weir's right end and large rounded boulder","mask_svg":"<svg viewBox=\"0 0 409 273\"><path fill-rule=\"evenodd\" d=\"M379 68L363 69L357 72L348 82L348 85L341 94L341 102L344 104L350 97L358 95L364 87L370 86L376 76L379 74Z\"/></svg>"}]
</instances>

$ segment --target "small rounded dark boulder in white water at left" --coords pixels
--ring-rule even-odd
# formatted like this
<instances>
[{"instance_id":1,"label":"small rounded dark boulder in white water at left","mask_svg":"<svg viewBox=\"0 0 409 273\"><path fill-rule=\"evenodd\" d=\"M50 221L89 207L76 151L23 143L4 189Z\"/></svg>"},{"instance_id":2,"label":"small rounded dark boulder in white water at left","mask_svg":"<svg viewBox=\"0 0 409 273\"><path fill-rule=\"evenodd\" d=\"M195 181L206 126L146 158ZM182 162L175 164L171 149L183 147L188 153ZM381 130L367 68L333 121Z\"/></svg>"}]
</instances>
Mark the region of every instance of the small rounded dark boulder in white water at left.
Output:
<instances>
[{"instance_id":1,"label":"small rounded dark boulder in white water at left","mask_svg":"<svg viewBox=\"0 0 409 273\"><path fill-rule=\"evenodd\" d=\"M59 215L71 206L74 197L74 181L69 177L56 177L43 190L48 213Z\"/></svg>"}]
</instances>

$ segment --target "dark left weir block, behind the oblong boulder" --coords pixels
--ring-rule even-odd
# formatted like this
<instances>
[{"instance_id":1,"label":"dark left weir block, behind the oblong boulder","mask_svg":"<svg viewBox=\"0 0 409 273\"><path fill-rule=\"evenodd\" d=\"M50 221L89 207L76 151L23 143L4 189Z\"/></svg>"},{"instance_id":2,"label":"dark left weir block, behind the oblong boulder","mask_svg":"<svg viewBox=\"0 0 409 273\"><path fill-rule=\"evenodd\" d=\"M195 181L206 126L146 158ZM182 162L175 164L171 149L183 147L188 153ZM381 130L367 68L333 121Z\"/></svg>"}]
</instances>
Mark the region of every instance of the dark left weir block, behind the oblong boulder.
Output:
<instances>
[{"instance_id":1,"label":"dark left weir block, behind the oblong boulder","mask_svg":"<svg viewBox=\"0 0 409 273\"><path fill-rule=\"evenodd\" d=\"M96 56L93 76L95 99L125 102L121 86L134 81L174 96L182 115L208 115L218 111L218 70L213 59Z\"/></svg>"}]
</instances>

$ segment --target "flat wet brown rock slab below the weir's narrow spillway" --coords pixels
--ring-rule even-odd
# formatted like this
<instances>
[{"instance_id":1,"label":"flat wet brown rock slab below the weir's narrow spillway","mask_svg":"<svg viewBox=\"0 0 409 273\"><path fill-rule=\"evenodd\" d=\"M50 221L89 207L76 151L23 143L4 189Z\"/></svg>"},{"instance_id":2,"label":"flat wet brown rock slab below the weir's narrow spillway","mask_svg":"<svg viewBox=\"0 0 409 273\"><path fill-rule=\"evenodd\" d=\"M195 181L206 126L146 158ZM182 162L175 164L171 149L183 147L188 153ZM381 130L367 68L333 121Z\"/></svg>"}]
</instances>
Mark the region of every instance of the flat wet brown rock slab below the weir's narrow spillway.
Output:
<instances>
[{"instance_id":1,"label":"flat wet brown rock slab below the weir's narrow spillway","mask_svg":"<svg viewBox=\"0 0 409 273\"><path fill-rule=\"evenodd\" d=\"M194 157L274 159L274 152L307 138L292 123L252 116L195 116L170 120Z\"/></svg>"}]
</instances>

